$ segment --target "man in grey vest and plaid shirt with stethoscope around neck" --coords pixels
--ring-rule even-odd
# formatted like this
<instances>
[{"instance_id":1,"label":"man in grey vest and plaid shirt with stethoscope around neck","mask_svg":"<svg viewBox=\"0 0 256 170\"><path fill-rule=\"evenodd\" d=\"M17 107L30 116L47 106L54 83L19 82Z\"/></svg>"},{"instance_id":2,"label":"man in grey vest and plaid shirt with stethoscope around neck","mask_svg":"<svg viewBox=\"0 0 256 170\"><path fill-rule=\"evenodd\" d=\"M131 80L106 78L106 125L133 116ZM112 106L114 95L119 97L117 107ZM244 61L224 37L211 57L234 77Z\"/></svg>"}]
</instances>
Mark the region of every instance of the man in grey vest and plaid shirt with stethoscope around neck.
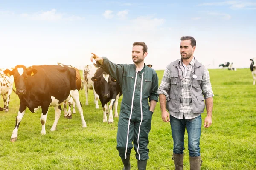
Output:
<instances>
[{"instance_id":1,"label":"man in grey vest and plaid shirt with stethoscope around neck","mask_svg":"<svg viewBox=\"0 0 256 170\"><path fill-rule=\"evenodd\" d=\"M201 113L206 106L207 116L204 119L204 127L210 127L214 95L209 71L193 56L195 39L186 36L181 37L180 40L181 59L167 65L157 93L162 119L171 124L174 142L172 159L175 170L183 170L185 128L188 132L190 170L200 170Z\"/></svg>"}]
</instances>

